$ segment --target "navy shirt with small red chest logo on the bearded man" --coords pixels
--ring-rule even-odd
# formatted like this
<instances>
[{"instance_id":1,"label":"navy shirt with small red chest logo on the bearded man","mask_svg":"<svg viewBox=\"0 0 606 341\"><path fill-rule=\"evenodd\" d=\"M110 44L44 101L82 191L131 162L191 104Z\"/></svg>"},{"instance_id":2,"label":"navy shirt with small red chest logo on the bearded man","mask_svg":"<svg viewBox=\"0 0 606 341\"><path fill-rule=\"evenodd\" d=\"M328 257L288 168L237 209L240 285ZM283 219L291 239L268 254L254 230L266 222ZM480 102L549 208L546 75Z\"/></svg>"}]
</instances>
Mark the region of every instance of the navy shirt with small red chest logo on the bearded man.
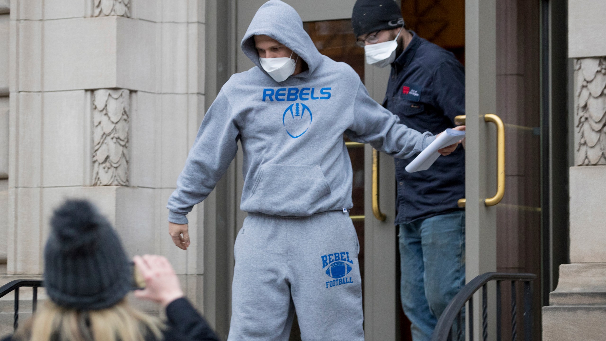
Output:
<instances>
[{"instance_id":1,"label":"navy shirt with small red chest logo on the bearded man","mask_svg":"<svg viewBox=\"0 0 606 341\"><path fill-rule=\"evenodd\" d=\"M383 106L400 122L419 132L438 134L454 127L454 116L465 115L465 73L453 53L420 38L413 39L396 61ZM427 170L408 173L413 158L396 159L398 215L396 224L459 210L465 197L465 150L459 146Z\"/></svg>"}]
</instances>

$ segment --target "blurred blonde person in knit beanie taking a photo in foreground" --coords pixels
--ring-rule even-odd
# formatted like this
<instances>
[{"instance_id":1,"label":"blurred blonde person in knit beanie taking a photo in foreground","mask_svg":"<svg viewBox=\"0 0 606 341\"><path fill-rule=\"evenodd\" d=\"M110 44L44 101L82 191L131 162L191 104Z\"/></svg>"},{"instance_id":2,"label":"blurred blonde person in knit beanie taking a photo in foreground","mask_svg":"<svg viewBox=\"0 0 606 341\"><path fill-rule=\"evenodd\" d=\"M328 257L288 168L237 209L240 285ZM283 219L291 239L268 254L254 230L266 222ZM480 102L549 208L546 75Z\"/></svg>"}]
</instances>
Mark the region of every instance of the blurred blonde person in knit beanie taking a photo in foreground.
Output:
<instances>
[{"instance_id":1,"label":"blurred blonde person in knit beanie taking a photo in foreground","mask_svg":"<svg viewBox=\"0 0 606 341\"><path fill-rule=\"evenodd\" d=\"M145 289L135 296L162 305L167 322L130 306L133 268L109 221L88 201L56 209L44 249L47 300L3 341L218 341L184 298L168 260L136 256Z\"/></svg>"}]
</instances>

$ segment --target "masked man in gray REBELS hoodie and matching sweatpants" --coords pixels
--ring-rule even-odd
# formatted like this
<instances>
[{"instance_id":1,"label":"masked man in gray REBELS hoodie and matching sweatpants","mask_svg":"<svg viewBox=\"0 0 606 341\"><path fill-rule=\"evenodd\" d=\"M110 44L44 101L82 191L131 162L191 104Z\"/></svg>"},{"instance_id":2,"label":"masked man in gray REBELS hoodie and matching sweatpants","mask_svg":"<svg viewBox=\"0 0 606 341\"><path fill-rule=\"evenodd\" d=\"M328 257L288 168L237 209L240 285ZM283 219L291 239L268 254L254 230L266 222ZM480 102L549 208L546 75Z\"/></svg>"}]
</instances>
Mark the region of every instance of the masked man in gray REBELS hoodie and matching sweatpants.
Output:
<instances>
[{"instance_id":1,"label":"masked man in gray REBELS hoodie and matching sweatpants","mask_svg":"<svg viewBox=\"0 0 606 341\"><path fill-rule=\"evenodd\" d=\"M407 158L435 139L399 124L356 72L322 56L279 0L242 39L256 67L225 83L204 116L168 200L169 230L186 249L187 213L244 152L242 211L228 340L364 340L358 239L348 215L351 162L343 134ZM456 145L441 150L448 154Z\"/></svg>"}]
</instances>

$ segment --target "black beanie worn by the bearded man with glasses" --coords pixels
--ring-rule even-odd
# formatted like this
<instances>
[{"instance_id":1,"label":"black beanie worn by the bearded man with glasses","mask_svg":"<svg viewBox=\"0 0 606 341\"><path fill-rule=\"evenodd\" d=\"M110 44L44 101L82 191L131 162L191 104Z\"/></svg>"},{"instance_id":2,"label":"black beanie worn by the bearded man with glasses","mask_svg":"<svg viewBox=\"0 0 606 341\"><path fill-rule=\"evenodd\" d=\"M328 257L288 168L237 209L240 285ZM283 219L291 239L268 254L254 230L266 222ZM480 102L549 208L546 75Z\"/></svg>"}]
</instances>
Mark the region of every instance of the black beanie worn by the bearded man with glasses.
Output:
<instances>
[{"instance_id":1,"label":"black beanie worn by the bearded man with glasses","mask_svg":"<svg viewBox=\"0 0 606 341\"><path fill-rule=\"evenodd\" d=\"M404 26L400 7L393 0L358 0L351 13L353 33L357 36Z\"/></svg>"}]
</instances>

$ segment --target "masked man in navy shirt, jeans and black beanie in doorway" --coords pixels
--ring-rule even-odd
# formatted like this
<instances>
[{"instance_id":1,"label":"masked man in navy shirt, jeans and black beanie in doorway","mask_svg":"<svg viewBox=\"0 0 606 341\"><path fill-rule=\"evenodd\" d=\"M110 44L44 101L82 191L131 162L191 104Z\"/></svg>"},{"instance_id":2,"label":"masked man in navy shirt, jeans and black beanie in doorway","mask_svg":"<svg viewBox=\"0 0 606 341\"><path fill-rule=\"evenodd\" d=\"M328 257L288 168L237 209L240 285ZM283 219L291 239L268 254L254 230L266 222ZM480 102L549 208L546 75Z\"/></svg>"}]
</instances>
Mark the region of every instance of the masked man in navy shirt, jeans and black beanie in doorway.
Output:
<instances>
[{"instance_id":1,"label":"masked man in navy shirt, jeans and black beanie in doorway","mask_svg":"<svg viewBox=\"0 0 606 341\"><path fill-rule=\"evenodd\" d=\"M393 0L358 0L351 16L366 61L391 66L383 106L401 123L434 134L465 115L465 75L453 53L405 29ZM464 129L458 127L456 129ZM402 308L415 341L429 340L442 311L465 284L465 150L408 173L395 160Z\"/></svg>"}]
</instances>

